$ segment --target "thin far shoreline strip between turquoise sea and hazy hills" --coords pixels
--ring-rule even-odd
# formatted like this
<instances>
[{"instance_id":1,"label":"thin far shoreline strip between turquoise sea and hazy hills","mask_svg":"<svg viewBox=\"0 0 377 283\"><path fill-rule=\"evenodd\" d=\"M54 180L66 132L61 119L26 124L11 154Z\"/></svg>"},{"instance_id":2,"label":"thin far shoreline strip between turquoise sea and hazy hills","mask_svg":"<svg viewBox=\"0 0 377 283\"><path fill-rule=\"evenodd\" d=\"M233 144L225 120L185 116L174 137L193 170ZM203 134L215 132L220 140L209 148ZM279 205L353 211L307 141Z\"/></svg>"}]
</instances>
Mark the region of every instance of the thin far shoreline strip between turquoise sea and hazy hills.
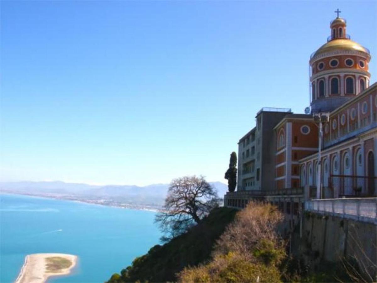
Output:
<instances>
[{"instance_id":1,"label":"thin far shoreline strip between turquoise sea and hazy hills","mask_svg":"<svg viewBox=\"0 0 377 283\"><path fill-rule=\"evenodd\" d=\"M94 200L81 200L81 199L72 199L72 198L65 198L65 197L59 197L57 195L37 195L37 194L21 194L17 192L8 192L8 191L2 191L0 190L0 195L2 194L8 194L8 195L22 195L26 197L36 197L36 198L47 198L47 199L55 199L55 200L64 200L64 201L74 201L78 203L85 203L87 205L99 205L99 206L108 206L112 208L123 208L123 209L131 209L131 210L141 210L141 211L150 211L150 212L159 212L161 209L157 207L149 207L149 206L143 206L143 205L128 205L128 204L107 204L103 203L102 200L100 201L94 201Z\"/></svg>"}]
</instances>

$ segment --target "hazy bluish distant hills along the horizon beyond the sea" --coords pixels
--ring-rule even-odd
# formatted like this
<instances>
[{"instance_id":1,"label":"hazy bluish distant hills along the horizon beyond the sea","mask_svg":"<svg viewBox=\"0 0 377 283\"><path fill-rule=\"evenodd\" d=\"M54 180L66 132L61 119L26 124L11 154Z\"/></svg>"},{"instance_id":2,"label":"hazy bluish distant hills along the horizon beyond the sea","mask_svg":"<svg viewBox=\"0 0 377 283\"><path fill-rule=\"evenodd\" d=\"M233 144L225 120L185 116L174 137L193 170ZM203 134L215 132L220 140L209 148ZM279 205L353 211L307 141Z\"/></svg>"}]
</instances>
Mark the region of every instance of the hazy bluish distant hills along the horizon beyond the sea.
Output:
<instances>
[{"instance_id":1,"label":"hazy bluish distant hills along the horizon beyond the sea","mask_svg":"<svg viewBox=\"0 0 377 283\"><path fill-rule=\"evenodd\" d=\"M211 182L223 198L228 186L221 182ZM148 186L106 185L95 186L80 183L64 183L62 181L21 181L0 182L0 192L14 194L40 195L48 197L67 196L78 200L107 200L133 205L162 206L169 188L169 184L153 184Z\"/></svg>"}]
</instances>

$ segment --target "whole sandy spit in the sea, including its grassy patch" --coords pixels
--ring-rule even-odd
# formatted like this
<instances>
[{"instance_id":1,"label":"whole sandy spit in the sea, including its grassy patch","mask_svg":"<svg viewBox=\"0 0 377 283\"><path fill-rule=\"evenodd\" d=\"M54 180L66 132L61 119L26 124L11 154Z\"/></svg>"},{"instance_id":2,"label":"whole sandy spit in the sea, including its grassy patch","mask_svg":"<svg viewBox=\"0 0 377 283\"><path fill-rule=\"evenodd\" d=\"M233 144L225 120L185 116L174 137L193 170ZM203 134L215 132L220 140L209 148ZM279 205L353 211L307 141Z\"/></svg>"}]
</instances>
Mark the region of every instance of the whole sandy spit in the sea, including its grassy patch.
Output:
<instances>
[{"instance_id":1,"label":"whole sandy spit in the sea, including its grassy patch","mask_svg":"<svg viewBox=\"0 0 377 283\"><path fill-rule=\"evenodd\" d=\"M51 276L68 275L77 263L70 254L31 254L25 257L15 283L44 283Z\"/></svg>"}]
</instances>

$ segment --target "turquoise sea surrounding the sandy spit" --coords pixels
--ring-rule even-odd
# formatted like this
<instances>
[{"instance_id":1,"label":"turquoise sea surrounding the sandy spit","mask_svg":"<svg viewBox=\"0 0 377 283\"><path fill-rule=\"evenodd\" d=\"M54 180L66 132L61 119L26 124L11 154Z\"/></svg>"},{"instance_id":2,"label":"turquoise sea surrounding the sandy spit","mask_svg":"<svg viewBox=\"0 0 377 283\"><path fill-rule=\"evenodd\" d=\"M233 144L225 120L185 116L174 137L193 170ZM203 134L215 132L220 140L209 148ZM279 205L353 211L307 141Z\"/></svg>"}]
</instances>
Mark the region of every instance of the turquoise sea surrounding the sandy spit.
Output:
<instances>
[{"instance_id":1,"label":"turquoise sea surrounding the sandy spit","mask_svg":"<svg viewBox=\"0 0 377 283\"><path fill-rule=\"evenodd\" d=\"M0 194L0 282L14 282L35 253L79 257L74 272L51 283L94 283L120 273L159 244L155 212Z\"/></svg>"}]
</instances>

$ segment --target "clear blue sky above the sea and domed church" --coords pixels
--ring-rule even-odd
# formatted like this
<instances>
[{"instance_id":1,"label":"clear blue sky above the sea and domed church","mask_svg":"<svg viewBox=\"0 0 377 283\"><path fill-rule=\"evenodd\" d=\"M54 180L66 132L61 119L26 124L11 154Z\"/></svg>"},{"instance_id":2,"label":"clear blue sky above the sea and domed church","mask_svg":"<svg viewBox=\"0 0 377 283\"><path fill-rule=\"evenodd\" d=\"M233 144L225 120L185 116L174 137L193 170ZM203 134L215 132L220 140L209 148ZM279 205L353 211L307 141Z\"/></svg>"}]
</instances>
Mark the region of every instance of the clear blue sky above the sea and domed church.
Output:
<instances>
[{"instance_id":1,"label":"clear blue sky above the sea and domed church","mask_svg":"<svg viewBox=\"0 0 377 283\"><path fill-rule=\"evenodd\" d=\"M375 1L1 1L0 181L226 182L259 109L309 106L337 8L372 84Z\"/></svg>"}]
</instances>

